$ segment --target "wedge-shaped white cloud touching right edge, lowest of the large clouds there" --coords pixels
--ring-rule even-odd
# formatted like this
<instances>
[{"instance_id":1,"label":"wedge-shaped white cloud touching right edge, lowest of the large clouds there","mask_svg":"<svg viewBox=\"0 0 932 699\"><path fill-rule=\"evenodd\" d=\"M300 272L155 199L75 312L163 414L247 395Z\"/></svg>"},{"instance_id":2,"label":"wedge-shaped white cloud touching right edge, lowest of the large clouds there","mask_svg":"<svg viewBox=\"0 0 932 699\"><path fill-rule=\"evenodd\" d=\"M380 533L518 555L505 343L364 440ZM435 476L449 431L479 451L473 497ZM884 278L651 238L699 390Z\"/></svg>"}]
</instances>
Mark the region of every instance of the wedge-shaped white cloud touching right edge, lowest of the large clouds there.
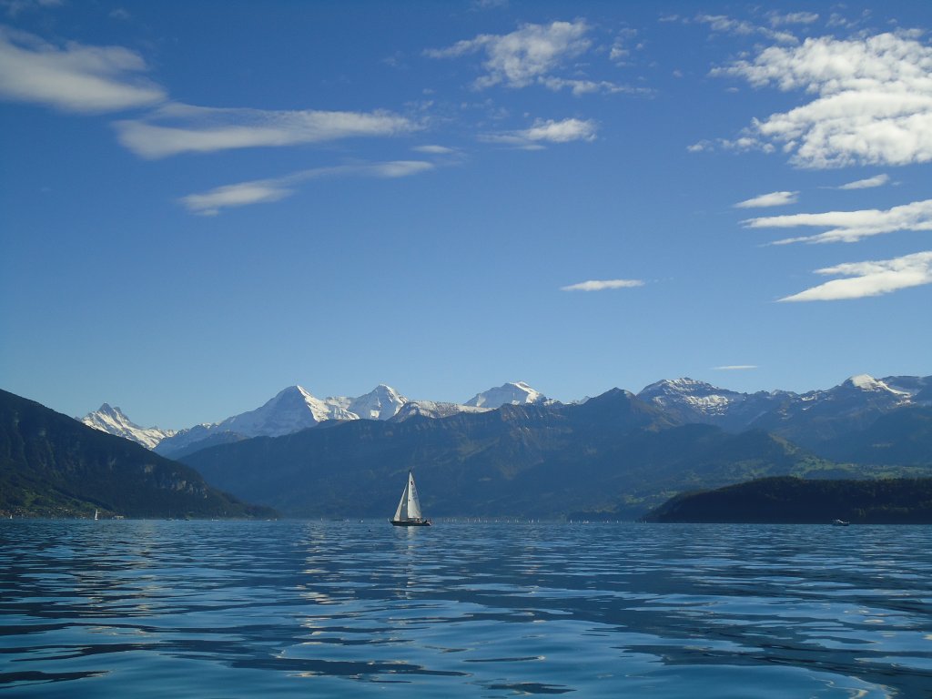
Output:
<instances>
[{"instance_id":1,"label":"wedge-shaped white cloud touching right edge, lowest of the large clouds there","mask_svg":"<svg viewBox=\"0 0 932 699\"><path fill-rule=\"evenodd\" d=\"M780 301L838 301L890 294L911 286L932 284L932 251L892 260L854 262L816 269L816 274L847 277L819 284Z\"/></svg>"}]
</instances>

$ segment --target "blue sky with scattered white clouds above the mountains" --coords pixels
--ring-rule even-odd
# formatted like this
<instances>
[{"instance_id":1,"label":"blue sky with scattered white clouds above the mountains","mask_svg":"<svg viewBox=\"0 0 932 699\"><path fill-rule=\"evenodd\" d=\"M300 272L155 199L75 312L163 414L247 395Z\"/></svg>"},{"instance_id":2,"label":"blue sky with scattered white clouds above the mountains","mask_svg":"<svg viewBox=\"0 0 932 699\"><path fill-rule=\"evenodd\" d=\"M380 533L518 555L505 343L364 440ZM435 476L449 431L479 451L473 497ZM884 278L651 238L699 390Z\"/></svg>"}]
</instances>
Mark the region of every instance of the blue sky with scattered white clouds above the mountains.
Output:
<instances>
[{"instance_id":1,"label":"blue sky with scattered white clouds above the mountains","mask_svg":"<svg viewBox=\"0 0 932 699\"><path fill-rule=\"evenodd\" d=\"M0 388L932 374L925 2L0 0Z\"/></svg>"}]
</instances>

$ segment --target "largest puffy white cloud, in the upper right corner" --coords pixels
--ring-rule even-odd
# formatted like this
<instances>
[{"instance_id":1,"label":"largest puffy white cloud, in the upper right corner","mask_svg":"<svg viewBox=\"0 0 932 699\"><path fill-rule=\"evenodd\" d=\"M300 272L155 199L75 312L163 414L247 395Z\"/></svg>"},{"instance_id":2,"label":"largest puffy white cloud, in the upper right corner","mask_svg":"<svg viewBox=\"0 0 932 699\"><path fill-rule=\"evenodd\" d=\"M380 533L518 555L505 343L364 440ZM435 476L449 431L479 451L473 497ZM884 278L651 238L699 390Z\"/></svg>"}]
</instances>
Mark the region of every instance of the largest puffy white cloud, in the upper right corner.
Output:
<instances>
[{"instance_id":1,"label":"largest puffy white cloud, in the upper right corner","mask_svg":"<svg viewBox=\"0 0 932 699\"><path fill-rule=\"evenodd\" d=\"M932 160L932 47L911 34L809 38L766 48L712 75L816 95L786 113L754 119L743 137L746 145L779 144L798 166Z\"/></svg>"}]
</instances>

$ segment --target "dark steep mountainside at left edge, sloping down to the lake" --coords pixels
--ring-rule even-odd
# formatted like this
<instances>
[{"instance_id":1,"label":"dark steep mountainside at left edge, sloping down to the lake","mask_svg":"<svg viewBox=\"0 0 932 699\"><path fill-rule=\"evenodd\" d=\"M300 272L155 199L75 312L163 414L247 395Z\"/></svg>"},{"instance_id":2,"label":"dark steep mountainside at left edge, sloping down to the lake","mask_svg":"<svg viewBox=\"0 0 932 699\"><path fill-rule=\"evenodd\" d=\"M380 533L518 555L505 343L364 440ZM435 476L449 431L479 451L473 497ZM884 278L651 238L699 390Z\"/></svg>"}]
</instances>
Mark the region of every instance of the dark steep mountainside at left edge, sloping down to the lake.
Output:
<instances>
[{"instance_id":1,"label":"dark steep mountainside at left edge, sloping down to the lake","mask_svg":"<svg viewBox=\"0 0 932 699\"><path fill-rule=\"evenodd\" d=\"M193 469L0 391L0 510L81 516L270 516Z\"/></svg>"}]
</instances>

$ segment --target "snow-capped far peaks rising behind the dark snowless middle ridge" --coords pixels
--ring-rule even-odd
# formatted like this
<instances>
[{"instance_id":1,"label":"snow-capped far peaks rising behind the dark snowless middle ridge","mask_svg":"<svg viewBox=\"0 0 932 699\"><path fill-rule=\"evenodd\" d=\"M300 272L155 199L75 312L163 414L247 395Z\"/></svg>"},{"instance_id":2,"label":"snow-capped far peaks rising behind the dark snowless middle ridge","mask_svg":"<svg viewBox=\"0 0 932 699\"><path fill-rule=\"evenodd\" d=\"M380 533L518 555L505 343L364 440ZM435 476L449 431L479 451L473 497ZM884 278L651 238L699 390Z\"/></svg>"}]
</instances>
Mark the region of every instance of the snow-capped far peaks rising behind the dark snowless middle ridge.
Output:
<instances>
[{"instance_id":1,"label":"snow-capped far peaks rising behind the dark snowless middle ridge","mask_svg":"<svg viewBox=\"0 0 932 699\"><path fill-rule=\"evenodd\" d=\"M795 444L816 448L847 432L866 428L897 408L932 405L932 377L876 379L860 375L828 390L805 393L742 393L692 378L676 378L652 383L637 393L637 399L660 407L679 423L714 425L726 432L764 430ZM384 384L356 398L316 398L300 386L291 386L252 411L178 432L140 427L119 408L108 404L80 419L90 427L132 439L158 454L178 459L207 446L292 434L334 420L400 422L415 416L448 418L509 404L557 403L524 382L505 383L477 393L462 404L410 400ZM834 449L832 454L838 456L841 451Z\"/></svg>"}]
</instances>

